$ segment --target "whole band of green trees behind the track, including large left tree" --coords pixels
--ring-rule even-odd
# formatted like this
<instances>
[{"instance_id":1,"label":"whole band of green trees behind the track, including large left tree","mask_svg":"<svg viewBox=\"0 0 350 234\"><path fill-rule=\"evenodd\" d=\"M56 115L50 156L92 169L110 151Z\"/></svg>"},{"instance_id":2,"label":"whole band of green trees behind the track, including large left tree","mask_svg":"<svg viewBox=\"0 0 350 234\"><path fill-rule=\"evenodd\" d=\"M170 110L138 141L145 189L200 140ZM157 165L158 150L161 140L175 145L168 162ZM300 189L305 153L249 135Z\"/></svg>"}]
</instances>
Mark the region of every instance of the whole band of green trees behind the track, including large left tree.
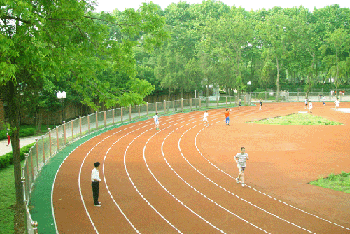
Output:
<instances>
[{"instance_id":1,"label":"whole band of green trees behind the track, including large left tree","mask_svg":"<svg viewBox=\"0 0 350 234\"><path fill-rule=\"evenodd\" d=\"M91 109L142 104L151 94L217 85L232 95L333 79L349 84L349 8L258 11L179 1L162 10L95 12L88 0L0 0L0 95L8 106L17 202L24 113L59 109L56 92ZM337 92L338 93L338 92ZM179 96L181 97L181 96ZM170 99L170 97L169 97Z\"/></svg>"}]
</instances>

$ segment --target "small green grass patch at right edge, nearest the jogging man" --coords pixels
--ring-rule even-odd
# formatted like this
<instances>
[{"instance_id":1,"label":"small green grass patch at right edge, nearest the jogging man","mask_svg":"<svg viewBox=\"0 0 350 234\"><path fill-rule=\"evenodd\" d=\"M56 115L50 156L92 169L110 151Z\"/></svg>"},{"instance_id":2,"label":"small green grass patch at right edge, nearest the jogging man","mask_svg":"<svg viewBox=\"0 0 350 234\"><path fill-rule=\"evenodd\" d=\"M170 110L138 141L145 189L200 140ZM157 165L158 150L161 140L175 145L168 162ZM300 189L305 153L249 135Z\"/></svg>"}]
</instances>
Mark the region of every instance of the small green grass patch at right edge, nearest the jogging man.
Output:
<instances>
[{"instance_id":1,"label":"small green grass patch at right edge, nearest the jogging man","mask_svg":"<svg viewBox=\"0 0 350 234\"><path fill-rule=\"evenodd\" d=\"M342 172L337 175L331 173L328 177L321 177L316 181L311 181L309 184L350 193L350 173Z\"/></svg>"}]
</instances>

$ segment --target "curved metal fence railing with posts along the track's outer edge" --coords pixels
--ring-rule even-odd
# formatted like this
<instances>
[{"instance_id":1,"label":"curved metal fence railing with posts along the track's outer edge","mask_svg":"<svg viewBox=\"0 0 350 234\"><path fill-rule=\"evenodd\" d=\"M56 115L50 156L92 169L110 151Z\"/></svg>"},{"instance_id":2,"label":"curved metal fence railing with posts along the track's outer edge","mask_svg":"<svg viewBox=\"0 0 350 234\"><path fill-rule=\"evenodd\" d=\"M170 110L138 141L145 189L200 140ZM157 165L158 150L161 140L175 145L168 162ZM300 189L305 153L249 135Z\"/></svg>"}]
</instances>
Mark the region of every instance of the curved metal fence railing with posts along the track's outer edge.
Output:
<instances>
[{"instance_id":1,"label":"curved metal fence railing with posts along the track's outer edge","mask_svg":"<svg viewBox=\"0 0 350 234\"><path fill-rule=\"evenodd\" d=\"M251 103L251 97L248 94L240 95L240 98L244 104ZM49 129L47 134L43 135L40 139L36 139L36 143L29 150L29 153L26 153L25 164L22 167L27 233L38 233L38 222L33 221L29 210L29 200L36 178L46 163L48 163L48 160L67 145L81 137L90 135L92 132L97 132L98 130L121 123L150 118L155 113L171 114L183 111L228 107L237 104L237 99L237 96L200 97L127 106L109 111L95 112L88 116L79 116L79 118L68 123L63 121L63 124L57 126L55 129Z\"/></svg>"}]
</instances>

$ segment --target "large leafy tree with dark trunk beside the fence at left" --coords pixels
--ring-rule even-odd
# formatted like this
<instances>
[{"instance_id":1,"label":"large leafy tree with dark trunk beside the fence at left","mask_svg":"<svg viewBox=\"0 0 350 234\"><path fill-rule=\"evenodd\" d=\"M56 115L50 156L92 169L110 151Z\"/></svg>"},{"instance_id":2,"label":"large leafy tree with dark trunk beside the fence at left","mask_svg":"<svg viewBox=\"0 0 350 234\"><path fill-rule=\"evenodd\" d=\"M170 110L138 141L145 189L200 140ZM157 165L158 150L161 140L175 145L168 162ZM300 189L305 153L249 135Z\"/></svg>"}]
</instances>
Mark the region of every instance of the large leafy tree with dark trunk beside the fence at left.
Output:
<instances>
[{"instance_id":1,"label":"large leafy tree with dark trunk beside the fence at left","mask_svg":"<svg viewBox=\"0 0 350 234\"><path fill-rule=\"evenodd\" d=\"M34 95L47 81L68 77L66 82L83 95L82 102L94 109L98 106L93 99L109 107L132 103L153 90L149 83L134 78L132 48L143 46L151 51L167 38L165 19L155 13L157 5L125 10L118 20L93 10L87 0L10 0L1 4L0 92L8 104L12 129L18 205L23 199L19 126L24 89ZM109 34L112 25L125 35L122 40ZM99 80L97 74L107 67L129 75L127 88L111 88L110 83Z\"/></svg>"}]
</instances>

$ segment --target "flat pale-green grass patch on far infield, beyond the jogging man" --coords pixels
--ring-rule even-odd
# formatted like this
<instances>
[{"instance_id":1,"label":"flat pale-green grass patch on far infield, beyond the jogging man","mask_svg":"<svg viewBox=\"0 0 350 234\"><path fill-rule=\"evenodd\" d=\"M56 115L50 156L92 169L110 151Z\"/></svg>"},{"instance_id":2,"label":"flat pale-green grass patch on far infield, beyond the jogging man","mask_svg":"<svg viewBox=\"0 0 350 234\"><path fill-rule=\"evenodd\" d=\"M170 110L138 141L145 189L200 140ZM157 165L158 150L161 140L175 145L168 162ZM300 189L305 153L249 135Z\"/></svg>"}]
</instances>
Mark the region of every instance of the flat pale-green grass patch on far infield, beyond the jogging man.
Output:
<instances>
[{"instance_id":1,"label":"flat pale-green grass patch on far infield, beyond the jogging man","mask_svg":"<svg viewBox=\"0 0 350 234\"><path fill-rule=\"evenodd\" d=\"M295 113L288 116L266 118L259 121L251 121L247 123L271 125L344 125L343 123L330 121L320 116L313 116L311 113Z\"/></svg>"}]
</instances>

